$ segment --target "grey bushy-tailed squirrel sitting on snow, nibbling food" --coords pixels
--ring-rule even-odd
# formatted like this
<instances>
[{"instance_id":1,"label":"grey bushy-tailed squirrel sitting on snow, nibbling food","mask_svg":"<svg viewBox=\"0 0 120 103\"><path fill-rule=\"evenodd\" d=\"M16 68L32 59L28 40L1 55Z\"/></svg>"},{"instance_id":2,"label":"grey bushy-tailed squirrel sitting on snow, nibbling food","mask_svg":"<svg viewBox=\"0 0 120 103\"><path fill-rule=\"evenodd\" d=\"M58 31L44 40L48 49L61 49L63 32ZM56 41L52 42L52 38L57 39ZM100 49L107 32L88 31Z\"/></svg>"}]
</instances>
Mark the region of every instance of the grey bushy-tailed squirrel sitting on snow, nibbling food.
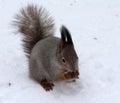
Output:
<instances>
[{"instance_id":1,"label":"grey bushy-tailed squirrel sitting on snow, nibbling food","mask_svg":"<svg viewBox=\"0 0 120 103\"><path fill-rule=\"evenodd\" d=\"M36 5L28 5L14 18L17 32L23 35L30 78L46 90L53 90L56 81L79 78L78 56L71 34L61 26L61 38L54 36L54 20Z\"/></svg>"}]
</instances>

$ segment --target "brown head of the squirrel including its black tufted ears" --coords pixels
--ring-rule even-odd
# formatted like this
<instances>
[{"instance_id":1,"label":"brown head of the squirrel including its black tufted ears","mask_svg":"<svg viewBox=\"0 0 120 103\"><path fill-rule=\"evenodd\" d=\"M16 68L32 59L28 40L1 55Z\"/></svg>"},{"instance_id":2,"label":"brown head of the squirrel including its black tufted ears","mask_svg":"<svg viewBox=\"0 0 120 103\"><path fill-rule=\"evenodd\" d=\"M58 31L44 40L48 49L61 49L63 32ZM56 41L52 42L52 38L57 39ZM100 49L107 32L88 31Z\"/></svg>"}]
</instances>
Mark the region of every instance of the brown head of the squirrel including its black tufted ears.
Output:
<instances>
[{"instance_id":1,"label":"brown head of the squirrel including its black tufted ears","mask_svg":"<svg viewBox=\"0 0 120 103\"><path fill-rule=\"evenodd\" d=\"M78 70L78 56L70 32L65 26L61 27L61 40L58 45L57 56L65 72Z\"/></svg>"}]
</instances>

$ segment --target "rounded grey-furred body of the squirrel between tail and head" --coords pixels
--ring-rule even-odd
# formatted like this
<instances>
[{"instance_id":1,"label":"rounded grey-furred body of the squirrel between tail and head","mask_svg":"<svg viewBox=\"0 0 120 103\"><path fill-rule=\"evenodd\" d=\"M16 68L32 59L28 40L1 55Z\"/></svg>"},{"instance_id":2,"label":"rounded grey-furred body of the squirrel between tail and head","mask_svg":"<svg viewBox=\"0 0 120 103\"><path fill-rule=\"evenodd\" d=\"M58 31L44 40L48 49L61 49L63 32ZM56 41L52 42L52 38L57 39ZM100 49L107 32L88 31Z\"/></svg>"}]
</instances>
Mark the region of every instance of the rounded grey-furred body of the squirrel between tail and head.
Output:
<instances>
[{"instance_id":1,"label":"rounded grey-furred body of the squirrel between tail and head","mask_svg":"<svg viewBox=\"0 0 120 103\"><path fill-rule=\"evenodd\" d=\"M49 81L57 80L57 74L64 68L57 62L57 57L55 56L59 41L59 38L48 37L35 45L29 64L32 78L38 80L47 79Z\"/></svg>"}]
</instances>

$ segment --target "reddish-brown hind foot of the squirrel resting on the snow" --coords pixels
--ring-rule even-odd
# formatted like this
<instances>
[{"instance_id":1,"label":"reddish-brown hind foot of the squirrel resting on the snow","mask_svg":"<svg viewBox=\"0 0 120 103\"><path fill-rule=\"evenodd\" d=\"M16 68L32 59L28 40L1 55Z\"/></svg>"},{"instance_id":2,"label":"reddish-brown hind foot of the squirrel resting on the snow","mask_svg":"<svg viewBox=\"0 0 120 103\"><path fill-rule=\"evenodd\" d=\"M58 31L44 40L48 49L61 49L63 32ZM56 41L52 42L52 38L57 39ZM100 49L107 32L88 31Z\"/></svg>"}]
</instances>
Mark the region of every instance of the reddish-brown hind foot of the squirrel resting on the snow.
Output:
<instances>
[{"instance_id":1,"label":"reddish-brown hind foot of the squirrel resting on the snow","mask_svg":"<svg viewBox=\"0 0 120 103\"><path fill-rule=\"evenodd\" d=\"M40 82L41 86L46 90L46 91L50 91L53 90L53 83L48 82L47 80L42 80Z\"/></svg>"}]
</instances>

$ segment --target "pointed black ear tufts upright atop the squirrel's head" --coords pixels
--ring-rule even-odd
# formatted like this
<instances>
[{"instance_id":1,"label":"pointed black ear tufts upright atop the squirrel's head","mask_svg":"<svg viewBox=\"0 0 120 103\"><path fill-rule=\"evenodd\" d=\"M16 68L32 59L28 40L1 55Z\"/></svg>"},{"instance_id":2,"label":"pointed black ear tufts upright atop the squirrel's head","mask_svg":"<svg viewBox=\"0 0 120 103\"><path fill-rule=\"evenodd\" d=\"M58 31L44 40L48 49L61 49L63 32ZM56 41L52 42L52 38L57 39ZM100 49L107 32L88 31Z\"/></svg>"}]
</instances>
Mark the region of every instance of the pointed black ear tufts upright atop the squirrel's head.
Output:
<instances>
[{"instance_id":1,"label":"pointed black ear tufts upright atop the squirrel's head","mask_svg":"<svg viewBox=\"0 0 120 103\"><path fill-rule=\"evenodd\" d=\"M73 44L70 32L65 26L62 26L60 29L61 32L61 40L64 44Z\"/></svg>"}]
</instances>

